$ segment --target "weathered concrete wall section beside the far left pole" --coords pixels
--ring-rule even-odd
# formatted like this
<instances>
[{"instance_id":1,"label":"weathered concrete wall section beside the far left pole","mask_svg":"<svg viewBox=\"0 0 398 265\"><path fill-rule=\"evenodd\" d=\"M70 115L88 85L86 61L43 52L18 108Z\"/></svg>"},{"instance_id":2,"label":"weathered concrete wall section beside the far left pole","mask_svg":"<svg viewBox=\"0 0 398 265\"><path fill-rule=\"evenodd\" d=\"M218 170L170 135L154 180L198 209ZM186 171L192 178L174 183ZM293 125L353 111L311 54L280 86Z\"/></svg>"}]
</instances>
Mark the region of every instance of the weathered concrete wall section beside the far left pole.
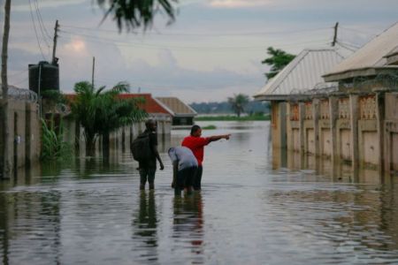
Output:
<instances>
[{"instance_id":1,"label":"weathered concrete wall section beside the far left pole","mask_svg":"<svg viewBox=\"0 0 398 265\"><path fill-rule=\"evenodd\" d=\"M7 123L7 155L12 176L19 168L36 163L39 159L41 122L37 104L9 99Z\"/></svg>"}]
</instances>

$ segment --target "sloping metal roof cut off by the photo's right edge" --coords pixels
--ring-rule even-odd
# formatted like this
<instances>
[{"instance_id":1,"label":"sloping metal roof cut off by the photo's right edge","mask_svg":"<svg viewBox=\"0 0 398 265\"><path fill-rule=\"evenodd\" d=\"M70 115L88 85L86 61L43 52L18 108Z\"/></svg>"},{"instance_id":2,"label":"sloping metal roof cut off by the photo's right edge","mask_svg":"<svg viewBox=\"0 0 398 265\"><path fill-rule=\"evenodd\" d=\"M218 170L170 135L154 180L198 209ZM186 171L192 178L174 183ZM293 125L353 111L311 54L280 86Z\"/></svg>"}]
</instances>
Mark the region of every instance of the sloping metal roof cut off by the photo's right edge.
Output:
<instances>
[{"instance_id":1,"label":"sloping metal roof cut off by the photo's right edge","mask_svg":"<svg viewBox=\"0 0 398 265\"><path fill-rule=\"evenodd\" d=\"M394 52L397 45L398 23L395 23L366 43L361 49L358 49L353 55L333 67L330 72L325 74L325 77L357 69L386 66L386 56Z\"/></svg>"}]
</instances>

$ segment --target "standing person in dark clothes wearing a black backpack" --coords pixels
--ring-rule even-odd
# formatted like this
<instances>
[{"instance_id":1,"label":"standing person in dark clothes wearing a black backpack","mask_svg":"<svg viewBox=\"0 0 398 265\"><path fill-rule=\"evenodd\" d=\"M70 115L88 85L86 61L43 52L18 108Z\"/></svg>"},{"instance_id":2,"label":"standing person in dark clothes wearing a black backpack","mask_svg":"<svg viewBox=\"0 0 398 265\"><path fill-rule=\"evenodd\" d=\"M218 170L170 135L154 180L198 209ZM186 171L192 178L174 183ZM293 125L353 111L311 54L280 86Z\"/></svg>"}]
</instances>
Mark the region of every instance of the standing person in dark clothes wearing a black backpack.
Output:
<instances>
[{"instance_id":1,"label":"standing person in dark clothes wearing a black backpack","mask_svg":"<svg viewBox=\"0 0 398 265\"><path fill-rule=\"evenodd\" d=\"M145 122L146 130L138 135L131 145L133 157L138 161L140 171L140 190L145 189L148 181L149 190L155 189L155 173L157 171L157 161L160 164L160 170L165 166L160 159L157 151L157 123L153 119Z\"/></svg>"}]
</instances>

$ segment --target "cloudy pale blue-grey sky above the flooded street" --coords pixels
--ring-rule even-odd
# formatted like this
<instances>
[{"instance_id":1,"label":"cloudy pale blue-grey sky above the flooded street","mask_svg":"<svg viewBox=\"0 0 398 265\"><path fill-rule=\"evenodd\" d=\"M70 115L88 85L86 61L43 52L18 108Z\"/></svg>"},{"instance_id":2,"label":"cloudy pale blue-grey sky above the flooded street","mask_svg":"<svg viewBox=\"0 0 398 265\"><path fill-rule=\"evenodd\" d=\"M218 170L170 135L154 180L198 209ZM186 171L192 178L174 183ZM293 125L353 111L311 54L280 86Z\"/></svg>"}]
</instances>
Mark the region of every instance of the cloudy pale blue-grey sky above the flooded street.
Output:
<instances>
[{"instance_id":1,"label":"cloudy pale blue-grey sky above the flooded street","mask_svg":"<svg viewBox=\"0 0 398 265\"><path fill-rule=\"evenodd\" d=\"M1 29L4 0L0 0ZM147 31L121 33L96 0L12 0L8 79L28 87L27 64L49 61L55 21L60 89L126 81L132 93L177 96L184 102L221 102L254 95L266 81L266 48L298 54L330 47L358 49L398 21L396 0L180 0L173 23L157 13ZM343 47L344 46L344 47Z\"/></svg>"}]
</instances>

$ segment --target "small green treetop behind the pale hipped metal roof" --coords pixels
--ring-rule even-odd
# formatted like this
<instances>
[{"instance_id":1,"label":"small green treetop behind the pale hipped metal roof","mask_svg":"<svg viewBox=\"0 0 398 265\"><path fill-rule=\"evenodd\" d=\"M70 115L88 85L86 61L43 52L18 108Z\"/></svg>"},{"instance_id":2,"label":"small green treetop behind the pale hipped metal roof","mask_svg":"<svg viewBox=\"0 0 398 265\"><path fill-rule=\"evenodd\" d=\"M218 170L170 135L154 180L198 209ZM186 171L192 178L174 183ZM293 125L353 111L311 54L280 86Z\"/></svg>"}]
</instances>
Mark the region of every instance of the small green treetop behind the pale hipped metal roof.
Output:
<instances>
[{"instance_id":1,"label":"small green treetop behind the pale hipped metal roof","mask_svg":"<svg viewBox=\"0 0 398 265\"><path fill-rule=\"evenodd\" d=\"M271 72L264 73L267 79L272 79L295 58L295 55L289 54L282 49L273 49L273 47L268 47L267 54L269 57L261 62L261 64L271 66Z\"/></svg>"}]
</instances>

